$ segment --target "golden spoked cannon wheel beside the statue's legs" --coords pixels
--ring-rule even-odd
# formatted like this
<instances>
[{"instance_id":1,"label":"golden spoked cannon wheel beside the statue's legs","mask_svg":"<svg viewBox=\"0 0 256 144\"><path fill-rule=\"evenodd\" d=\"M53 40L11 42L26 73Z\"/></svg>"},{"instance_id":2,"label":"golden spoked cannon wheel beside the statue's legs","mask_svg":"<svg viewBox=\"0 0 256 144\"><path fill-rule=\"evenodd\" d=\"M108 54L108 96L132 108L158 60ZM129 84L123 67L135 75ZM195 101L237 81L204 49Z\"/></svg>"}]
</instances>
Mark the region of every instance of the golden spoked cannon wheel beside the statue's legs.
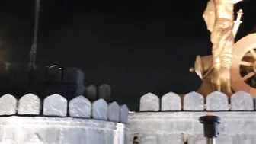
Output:
<instances>
[{"instance_id":1,"label":"golden spoked cannon wheel beside the statue's legs","mask_svg":"<svg viewBox=\"0 0 256 144\"><path fill-rule=\"evenodd\" d=\"M256 34L249 34L235 43L230 74L234 91L245 91L256 98L255 86L248 82L256 73ZM241 71L245 71L241 75Z\"/></svg>"}]
</instances>

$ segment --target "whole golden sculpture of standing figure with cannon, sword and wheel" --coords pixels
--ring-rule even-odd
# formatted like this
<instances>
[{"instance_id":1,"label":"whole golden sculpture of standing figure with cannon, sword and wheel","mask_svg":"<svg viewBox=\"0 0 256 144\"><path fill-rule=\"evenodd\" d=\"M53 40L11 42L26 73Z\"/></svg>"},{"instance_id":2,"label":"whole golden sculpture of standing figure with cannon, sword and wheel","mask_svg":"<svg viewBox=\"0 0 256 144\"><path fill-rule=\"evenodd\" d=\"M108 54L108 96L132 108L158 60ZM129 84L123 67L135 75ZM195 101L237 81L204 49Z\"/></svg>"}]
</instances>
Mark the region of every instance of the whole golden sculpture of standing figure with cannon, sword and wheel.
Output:
<instances>
[{"instance_id":1,"label":"whole golden sculpture of standing figure with cannon, sword and wheel","mask_svg":"<svg viewBox=\"0 0 256 144\"><path fill-rule=\"evenodd\" d=\"M210 0L203 14L211 32L213 56L197 56L194 68L203 80L198 93L206 97L213 91L231 96L245 91L256 98L256 30L234 44L242 23L242 10L233 18L234 5L242 0Z\"/></svg>"}]
</instances>

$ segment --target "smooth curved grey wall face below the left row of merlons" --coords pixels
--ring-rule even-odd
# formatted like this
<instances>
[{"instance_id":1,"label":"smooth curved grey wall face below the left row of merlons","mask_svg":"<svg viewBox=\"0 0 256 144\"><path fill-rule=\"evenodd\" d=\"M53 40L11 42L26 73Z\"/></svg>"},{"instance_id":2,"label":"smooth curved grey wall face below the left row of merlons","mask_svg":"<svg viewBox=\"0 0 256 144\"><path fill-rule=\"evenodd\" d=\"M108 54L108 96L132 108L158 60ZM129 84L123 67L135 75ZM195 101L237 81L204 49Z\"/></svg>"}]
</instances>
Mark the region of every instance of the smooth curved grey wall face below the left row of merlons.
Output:
<instances>
[{"instance_id":1,"label":"smooth curved grey wall face below the left row of merlons","mask_svg":"<svg viewBox=\"0 0 256 144\"><path fill-rule=\"evenodd\" d=\"M127 131L123 123L92 119L0 117L0 144L126 144Z\"/></svg>"}]
</instances>

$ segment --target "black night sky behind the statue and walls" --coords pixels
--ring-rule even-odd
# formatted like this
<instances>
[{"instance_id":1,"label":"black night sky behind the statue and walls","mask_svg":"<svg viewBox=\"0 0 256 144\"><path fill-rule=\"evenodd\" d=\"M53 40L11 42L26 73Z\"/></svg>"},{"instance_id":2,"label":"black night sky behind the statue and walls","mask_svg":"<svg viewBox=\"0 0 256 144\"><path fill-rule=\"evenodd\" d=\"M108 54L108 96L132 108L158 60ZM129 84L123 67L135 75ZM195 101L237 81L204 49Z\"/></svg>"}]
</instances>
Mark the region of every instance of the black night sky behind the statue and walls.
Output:
<instances>
[{"instance_id":1,"label":"black night sky behind the statue and walls","mask_svg":"<svg viewBox=\"0 0 256 144\"><path fill-rule=\"evenodd\" d=\"M28 62L35 0L0 0L0 55ZM75 66L85 85L107 83L112 99L132 109L147 92L197 91L201 80L189 68L210 55L203 21L207 0L42 0L37 65ZM256 25L256 1L242 8L237 40ZM236 12L235 12L236 14Z\"/></svg>"}]
</instances>

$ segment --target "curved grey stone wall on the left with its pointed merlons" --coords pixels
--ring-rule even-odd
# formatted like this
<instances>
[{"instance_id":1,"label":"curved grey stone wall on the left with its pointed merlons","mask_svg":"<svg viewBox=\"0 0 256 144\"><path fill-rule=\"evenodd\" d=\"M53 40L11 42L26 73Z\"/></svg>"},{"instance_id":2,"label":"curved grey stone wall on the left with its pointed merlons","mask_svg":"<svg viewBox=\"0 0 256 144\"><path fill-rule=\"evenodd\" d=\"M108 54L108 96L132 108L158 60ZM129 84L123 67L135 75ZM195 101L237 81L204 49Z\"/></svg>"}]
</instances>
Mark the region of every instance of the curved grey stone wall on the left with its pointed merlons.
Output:
<instances>
[{"instance_id":1,"label":"curved grey stone wall on the left with its pointed merlons","mask_svg":"<svg viewBox=\"0 0 256 144\"><path fill-rule=\"evenodd\" d=\"M43 101L26 94L0 98L0 143L111 144L126 142L128 107L104 99L91 103L78 96L67 101L53 94Z\"/></svg>"}]
</instances>

